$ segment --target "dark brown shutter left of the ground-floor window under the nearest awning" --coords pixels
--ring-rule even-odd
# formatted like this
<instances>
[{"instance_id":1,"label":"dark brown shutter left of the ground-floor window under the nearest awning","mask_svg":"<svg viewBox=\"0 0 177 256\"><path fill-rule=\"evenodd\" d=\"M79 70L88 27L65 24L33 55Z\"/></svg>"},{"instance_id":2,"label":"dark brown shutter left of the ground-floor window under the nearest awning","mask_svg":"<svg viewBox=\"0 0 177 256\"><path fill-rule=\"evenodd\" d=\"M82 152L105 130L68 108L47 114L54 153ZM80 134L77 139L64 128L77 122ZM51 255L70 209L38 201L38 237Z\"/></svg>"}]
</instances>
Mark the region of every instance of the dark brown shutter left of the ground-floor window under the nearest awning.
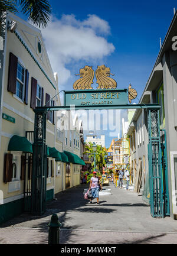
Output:
<instances>
[{"instance_id":1,"label":"dark brown shutter left of the ground-floor window under the nearest awning","mask_svg":"<svg viewBox=\"0 0 177 256\"><path fill-rule=\"evenodd\" d=\"M4 158L4 183L12 181L12 154L5 154Z\"/></svg>"}]
</instances>

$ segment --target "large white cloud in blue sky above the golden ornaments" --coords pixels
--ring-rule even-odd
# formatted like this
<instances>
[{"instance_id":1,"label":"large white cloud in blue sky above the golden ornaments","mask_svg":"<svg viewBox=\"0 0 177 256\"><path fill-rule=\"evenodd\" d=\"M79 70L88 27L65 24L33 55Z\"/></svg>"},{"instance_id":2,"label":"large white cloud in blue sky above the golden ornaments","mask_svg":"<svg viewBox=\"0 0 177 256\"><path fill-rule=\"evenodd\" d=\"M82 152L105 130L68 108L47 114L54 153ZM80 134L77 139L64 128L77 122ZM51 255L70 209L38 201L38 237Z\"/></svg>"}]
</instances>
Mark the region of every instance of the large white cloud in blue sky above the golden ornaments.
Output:
<instances>
[{"instance_id":1,"label":"large white cloud in blue sky above the golden ornaments","mask_svg":"<svg viewBox=\"0 0 177 256\"><path fill-rule=\"evenodd\" d=\"M60 20L52 17L41 32L53 71L58 73L59 86L71 77L67 67L71 61L101 60L115 49L105 38L110 34L108 22L96 15L88 15L84 21L73 14L63 15Z\"/></svg>"}]
</instances>

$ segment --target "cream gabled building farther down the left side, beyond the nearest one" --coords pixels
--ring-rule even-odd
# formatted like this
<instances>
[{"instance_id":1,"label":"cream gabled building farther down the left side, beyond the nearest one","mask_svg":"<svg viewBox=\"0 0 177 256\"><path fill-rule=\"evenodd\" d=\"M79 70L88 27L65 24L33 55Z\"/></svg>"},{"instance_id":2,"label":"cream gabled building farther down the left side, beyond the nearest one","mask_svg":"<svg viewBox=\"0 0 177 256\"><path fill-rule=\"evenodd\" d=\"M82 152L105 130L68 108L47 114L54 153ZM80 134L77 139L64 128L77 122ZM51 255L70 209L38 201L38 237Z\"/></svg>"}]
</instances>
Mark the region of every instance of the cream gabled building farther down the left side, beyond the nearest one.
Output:
<instances>
[{"instance_id":1,"label":"cream gabled building farther down the left side, beyond the nearest one","mask_svg":"<svg viewBox=\"0 0 177 256\"><path fill-rule=\"evenodd\" d=\"M77 114L74 117L71 115L70 111L58 111L57 112L57 140L63 138L62 141L62 151L65 154L72 154L71 157L81 156L81 126L82 121L78 119ZM58 143L58 142L57 142ZM61 190L67 189L69 187L76 186L80 184L80 168L81 164L77 164L77 161L72 159L70 163L62 163L63 171L55 179L55 193Z\"/></svg>"}]
</instances>

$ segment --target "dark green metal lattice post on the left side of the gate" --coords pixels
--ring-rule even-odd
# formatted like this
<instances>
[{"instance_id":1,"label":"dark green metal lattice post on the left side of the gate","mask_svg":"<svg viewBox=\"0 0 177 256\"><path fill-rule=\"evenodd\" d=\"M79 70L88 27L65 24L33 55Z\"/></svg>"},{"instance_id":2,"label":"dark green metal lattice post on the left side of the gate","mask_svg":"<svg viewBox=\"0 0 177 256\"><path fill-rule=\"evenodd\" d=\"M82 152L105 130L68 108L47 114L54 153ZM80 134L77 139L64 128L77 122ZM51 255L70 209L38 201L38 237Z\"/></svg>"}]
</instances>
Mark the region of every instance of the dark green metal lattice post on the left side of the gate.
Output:
<instances>
[{"instance_id":1,"label":"dark green metal lattice post on the left side of the gate","mask_svg":"<svg viewBox=\"0 0 177 256\"><path fill-rule=\"evenodd\" d=\"M47 179L47 145L45 110L35 110L34 148L32 157L31 213L42 215L45 212Z\"/></svg>"}]
</instances>

